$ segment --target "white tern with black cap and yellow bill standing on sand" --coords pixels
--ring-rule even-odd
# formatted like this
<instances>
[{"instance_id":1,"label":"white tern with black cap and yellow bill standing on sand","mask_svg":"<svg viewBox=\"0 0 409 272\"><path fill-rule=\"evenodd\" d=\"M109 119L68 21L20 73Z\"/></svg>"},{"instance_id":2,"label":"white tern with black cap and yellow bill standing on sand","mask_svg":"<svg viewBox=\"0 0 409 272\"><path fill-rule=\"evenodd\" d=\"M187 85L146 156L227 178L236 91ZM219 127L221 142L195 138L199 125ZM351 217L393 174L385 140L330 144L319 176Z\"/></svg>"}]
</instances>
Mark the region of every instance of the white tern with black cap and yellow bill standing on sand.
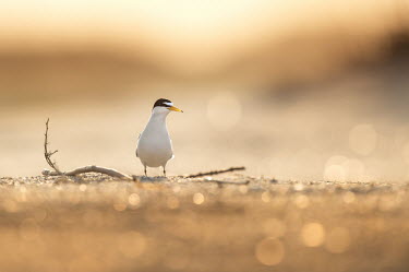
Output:
<instances>
[{"instance_id":1,"label":"white tern with black cap and yellow bill standing on sand","mask_svg":"<svg viewBox=\"0 0 409 272\"><path fill-rule=\"evenodd\" d=\"M164 167L166 176L166 164L173 158L172 141L166 127L166 117L170 111L183 113L168 99L156 100L149 121L137 140L136 157L144 166L145 176L147 166Z\"/></svg>"}]
</instances>

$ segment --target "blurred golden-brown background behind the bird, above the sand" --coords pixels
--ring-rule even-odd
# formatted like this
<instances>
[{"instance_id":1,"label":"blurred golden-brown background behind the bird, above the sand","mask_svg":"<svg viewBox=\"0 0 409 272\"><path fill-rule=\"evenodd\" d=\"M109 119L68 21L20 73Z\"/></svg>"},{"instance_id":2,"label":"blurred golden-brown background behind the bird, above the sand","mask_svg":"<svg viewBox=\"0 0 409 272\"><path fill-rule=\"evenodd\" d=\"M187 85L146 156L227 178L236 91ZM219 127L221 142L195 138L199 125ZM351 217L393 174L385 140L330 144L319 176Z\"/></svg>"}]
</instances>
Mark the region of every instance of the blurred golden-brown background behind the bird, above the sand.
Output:
<instances>
[{"instance_id":1,"label":"blurred golden-brown background behind the bird, above the sand","mask_svg":"<svg viewBox=\"0 0 409 272\"><path fill-rule=\"evenodd\" d=\"M14 0L0 3L0 175L141 175L157 98L170 175L409 178L408 0ZM159 175L160 170L149 170Z\"/></svg>"}]
</instances>

